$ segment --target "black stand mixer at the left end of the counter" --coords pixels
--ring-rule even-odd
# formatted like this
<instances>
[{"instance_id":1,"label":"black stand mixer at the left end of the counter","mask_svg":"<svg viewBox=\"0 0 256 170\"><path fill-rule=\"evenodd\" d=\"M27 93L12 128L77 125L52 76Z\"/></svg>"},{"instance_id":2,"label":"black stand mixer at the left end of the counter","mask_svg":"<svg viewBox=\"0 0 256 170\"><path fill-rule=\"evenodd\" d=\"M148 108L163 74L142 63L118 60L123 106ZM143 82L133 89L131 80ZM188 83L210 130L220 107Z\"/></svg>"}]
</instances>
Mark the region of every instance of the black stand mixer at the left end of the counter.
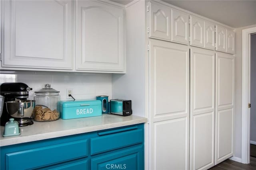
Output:
<instances>
[{"instance_id":1,"label":"black stand mixer at the left end of the counter","mask_svg":"<svg viewBox=\"0 0 256 170\"><path fill-rule=\"evenodd\" d=\"M19 126L32 125L33 121L31 120L30 116L24 117L24 114L21 116L19 114L17 116L19 111L16 111L15 117L12 117L7 110L7 103L10 103L11 101L13 103L20 104L26 102L26 99L28 98L28 92L32 90L32 88L28 87L28 85L24 83L3 83L0 85L0 90L1 96L4 96L4 107L2 116L0 117L1 126L4 126L10 118L14 118L16 121L18 121ZM22 107L22 112L24 112L24 106Z\"/></svg>"}]
</instances>

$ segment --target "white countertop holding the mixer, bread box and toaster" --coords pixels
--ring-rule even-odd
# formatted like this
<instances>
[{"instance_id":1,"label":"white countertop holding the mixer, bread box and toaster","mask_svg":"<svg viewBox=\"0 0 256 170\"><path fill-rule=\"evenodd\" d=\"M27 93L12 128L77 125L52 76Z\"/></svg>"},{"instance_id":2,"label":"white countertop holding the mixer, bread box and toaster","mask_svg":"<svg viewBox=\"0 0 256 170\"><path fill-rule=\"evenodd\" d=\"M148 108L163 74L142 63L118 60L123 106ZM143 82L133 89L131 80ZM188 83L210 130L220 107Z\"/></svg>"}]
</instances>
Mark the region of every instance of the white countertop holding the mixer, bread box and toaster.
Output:
<instances>
[{"instance_id":1,"label":"white countertop holding the mixer, bread box and toaster","mask_svg":"<svg viewBox=\"0 0 256 170\"><path fill-rule=\"evenodd\" d=\"M4 127L1 126L0 147L146 122L145 117L111 114L78 119L58 119L48 122L34 121L33 125L20 127L21 134L12 137L3 137Z\"/></svg>"}]
</instances>

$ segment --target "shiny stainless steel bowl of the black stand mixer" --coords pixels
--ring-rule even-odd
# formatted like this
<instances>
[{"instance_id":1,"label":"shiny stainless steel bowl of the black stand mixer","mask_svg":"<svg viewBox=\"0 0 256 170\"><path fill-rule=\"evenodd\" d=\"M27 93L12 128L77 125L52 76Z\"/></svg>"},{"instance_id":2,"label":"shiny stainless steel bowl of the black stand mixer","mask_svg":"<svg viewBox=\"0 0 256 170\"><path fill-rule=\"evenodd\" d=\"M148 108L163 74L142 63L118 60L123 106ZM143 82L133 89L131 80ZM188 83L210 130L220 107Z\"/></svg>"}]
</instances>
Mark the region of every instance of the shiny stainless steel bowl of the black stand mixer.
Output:
<instances>
[{"instance_id":1,"label":"shiny stainless steel bowl of the black stand mixer","mask_svg":"<svg viewBox=\"0 0 256 170\"><path fill-rule=\"evenodd\" d=\"M9 115L16 118L31 117L36 106L35 100L17 100L6 102Z\"/></svg>"}]
</instances>

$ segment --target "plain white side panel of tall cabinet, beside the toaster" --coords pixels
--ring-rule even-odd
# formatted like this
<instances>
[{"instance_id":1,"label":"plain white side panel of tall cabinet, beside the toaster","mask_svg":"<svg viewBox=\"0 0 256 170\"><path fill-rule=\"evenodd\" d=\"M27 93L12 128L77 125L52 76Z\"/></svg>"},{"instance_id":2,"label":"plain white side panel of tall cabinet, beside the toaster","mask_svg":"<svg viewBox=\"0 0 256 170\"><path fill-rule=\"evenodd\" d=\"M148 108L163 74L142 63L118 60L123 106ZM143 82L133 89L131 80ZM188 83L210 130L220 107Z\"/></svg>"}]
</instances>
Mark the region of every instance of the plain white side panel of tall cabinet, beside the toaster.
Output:
<instances>
[{"instance_id":1,"label":"plain white side panel of tall cabinet, beside the toaster","mask_svg":"<svg viewBox=\"0 0 256 170\"><path fill-rule=\"evenodd\" d=\"M113 98L132 100L132 114L145 117L145 2L126 8L126 74L112 75Z\"/></svg>"}]
</instances>

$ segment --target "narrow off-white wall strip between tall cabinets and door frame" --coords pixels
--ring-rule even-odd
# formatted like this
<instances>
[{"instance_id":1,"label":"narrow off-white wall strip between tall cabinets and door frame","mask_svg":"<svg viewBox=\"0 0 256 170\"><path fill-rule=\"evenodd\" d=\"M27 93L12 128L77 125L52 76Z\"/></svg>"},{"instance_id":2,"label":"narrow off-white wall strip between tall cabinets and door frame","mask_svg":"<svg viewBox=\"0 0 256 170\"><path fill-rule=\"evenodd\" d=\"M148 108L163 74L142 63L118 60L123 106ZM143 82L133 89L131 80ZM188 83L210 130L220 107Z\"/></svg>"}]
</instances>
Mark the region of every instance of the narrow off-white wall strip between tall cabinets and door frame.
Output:
<instances>
[{"instance_id":1,"label":"narrow off-white wall strip between tall cabinets and door frame","mask_svg":"<svg viewBox=\"0 0 256 170\"><path fill-rule=\"evenodd\" d=\"M250 25L235 29L236 31L236 80L235 80L235 135L234 156L241 158L242 137L242 29L256 27Z\"/></svg>"}]
</instances>

